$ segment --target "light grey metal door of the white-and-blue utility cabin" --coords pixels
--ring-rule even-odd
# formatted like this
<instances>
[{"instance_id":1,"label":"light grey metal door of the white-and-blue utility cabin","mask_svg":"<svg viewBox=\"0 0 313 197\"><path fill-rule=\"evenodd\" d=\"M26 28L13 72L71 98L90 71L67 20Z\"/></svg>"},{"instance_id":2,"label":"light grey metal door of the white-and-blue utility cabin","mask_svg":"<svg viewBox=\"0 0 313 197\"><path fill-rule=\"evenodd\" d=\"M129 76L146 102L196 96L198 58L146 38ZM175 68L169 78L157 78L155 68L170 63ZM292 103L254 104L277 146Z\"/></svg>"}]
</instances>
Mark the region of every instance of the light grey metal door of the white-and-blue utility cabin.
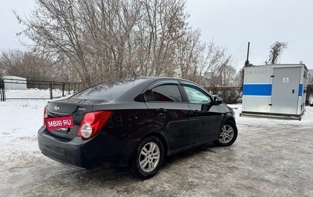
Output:
<instances>
[{"instance_id":1,"label":"light grey metal door of the white-and-blue utility cabin","mask_svg":"<svg viewBox=\"0 0 313 197\"><path fill-rule=\"evenodd\" d=\"M297 114L301 67L273 68L270 113Z\"/></svg>"}]
</instances>

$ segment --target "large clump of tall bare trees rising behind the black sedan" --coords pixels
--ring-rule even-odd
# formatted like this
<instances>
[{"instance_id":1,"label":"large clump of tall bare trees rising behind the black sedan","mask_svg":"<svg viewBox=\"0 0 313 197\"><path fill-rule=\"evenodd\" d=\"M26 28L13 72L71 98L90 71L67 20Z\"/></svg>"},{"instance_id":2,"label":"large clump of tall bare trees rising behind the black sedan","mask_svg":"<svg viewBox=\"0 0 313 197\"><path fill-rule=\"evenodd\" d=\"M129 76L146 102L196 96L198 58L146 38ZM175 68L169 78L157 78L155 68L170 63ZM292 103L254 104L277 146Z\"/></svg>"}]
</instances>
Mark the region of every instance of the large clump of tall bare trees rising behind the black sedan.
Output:
<instances>
[{"instance_id":1,"label":"large clump of tall bare trees rising behind the black sedan","mask_svg":"<svg viewBox=\"0 0 313 197\"><path fill-rule=\"evenodd\" d=\"M62 62L85 87L127 76L175 76L198 82L227 76L231 56L200 40L184 0L36 0L22 32L32 49ZM227 77L228 78L228 77ZM224 84L226 78L220 82Z\"/></svg>"}]
</instances>

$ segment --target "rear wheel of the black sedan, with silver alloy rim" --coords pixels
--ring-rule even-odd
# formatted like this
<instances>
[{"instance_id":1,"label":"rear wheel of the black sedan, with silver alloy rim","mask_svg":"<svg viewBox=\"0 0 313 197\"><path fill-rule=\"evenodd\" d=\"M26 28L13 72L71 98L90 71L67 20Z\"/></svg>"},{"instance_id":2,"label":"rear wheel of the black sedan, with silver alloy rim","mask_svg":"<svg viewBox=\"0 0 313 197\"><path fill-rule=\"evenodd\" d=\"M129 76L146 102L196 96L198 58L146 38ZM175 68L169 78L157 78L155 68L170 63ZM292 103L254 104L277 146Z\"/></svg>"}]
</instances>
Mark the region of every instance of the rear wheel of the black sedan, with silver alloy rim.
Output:
<instances>
[{"instance_id":1,"label":"rear wheel of the black sedan, with silver alloy rim","mask_svg":"<svg viewBox=\"0 0 313 197\"><path fill-rule=\"evenodd\" d=\"M164 159L163 143L159 138L150 136L139 142L132 158L132 176L147 179L154 176Z\"/></svg>"}]
</instances>

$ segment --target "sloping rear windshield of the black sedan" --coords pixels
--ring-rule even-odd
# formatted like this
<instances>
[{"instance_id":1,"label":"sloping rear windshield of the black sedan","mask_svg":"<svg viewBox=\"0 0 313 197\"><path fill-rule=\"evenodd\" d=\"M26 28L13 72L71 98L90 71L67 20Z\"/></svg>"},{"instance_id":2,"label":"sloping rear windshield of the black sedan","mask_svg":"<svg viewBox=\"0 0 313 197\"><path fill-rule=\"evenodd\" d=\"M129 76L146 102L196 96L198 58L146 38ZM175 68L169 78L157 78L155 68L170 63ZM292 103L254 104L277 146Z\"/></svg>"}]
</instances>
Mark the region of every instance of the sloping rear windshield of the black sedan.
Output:
<instances>
[{"instance_id":1,"label":"sloping rear windshield of the black sedan","mask_svg":"<svg viewBox=\"0 0 313 197\"><path fill-rule=\"evenodd\" d=\"M128 91L133 86L143 82L146 78L128 78L111 83L103 83L92 86L89 89L73 95L74 99L81 100L115 100L121 93Z\"/></svg>"}]
</instances>

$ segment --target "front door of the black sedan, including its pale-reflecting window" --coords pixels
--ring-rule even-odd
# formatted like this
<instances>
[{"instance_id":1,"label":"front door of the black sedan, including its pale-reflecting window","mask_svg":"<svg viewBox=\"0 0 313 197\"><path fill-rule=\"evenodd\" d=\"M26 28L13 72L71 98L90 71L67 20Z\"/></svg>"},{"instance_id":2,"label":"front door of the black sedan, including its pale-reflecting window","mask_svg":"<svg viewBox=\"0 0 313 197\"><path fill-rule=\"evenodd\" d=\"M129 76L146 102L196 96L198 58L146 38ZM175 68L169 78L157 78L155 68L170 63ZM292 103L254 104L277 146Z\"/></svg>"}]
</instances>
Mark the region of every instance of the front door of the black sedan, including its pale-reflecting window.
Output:
<instances>
[{"instance_id":1,"label":"front door of the black sedan, including its pale-reflecting window","mask_svg":"<svg viewBox=\"0 0 313 197\"><path fill-rule=\"evenodd\" d=\"M192 144L216 139L220 132L223 115L213 104L213 97L195 84L181 81L187 95L189 108L194 116Z\"/></svg>"}]
</instances>

